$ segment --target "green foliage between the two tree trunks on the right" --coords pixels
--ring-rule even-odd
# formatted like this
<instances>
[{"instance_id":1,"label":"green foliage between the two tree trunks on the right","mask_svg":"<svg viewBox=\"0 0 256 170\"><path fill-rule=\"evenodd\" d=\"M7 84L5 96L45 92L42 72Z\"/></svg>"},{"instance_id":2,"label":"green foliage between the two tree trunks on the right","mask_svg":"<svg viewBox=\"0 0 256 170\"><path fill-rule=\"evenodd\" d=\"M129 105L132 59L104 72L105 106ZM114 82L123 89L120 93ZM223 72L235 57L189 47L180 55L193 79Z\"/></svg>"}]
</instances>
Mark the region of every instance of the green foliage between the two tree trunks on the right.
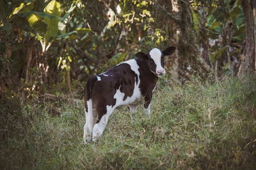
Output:
<instances>
[{"instance_id":1,"label":"green foliage between the two tree trunks on the right","mask_svg":"<svg viewBox=\"0 0 256 170\"><path fill-rule=\"evenodd\" d=\"M207 50L205 60L211 66L218 61L219 69L236 73L245 39L241 0L196 1L191 7L198 44Z\"/></svg>"}]
</instances>

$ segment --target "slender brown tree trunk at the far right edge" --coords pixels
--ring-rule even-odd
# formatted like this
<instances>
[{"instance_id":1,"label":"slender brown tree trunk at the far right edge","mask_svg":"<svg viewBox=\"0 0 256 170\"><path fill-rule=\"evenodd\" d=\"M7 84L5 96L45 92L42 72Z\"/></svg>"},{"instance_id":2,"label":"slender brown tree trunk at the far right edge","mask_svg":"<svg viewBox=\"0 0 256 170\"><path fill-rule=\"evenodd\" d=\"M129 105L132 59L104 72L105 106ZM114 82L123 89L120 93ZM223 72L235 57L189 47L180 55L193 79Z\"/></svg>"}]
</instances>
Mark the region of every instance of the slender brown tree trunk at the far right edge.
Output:
<instances>
[{"instance_id":1,"label":"slender brown tree trunk at the far right edge","mask_svg":"<svg viewBox=\"0 0 256 170\"><path fill-rule=\"evenodd\" d=\"M244 11L244 22L246 27L246 45L243 55L241 56L241 64L238 75L250 73L255 70L254 60L254 46L253 46L253 18L250 0L243 0L242 7Z\"/></svg>"}]
</instances>

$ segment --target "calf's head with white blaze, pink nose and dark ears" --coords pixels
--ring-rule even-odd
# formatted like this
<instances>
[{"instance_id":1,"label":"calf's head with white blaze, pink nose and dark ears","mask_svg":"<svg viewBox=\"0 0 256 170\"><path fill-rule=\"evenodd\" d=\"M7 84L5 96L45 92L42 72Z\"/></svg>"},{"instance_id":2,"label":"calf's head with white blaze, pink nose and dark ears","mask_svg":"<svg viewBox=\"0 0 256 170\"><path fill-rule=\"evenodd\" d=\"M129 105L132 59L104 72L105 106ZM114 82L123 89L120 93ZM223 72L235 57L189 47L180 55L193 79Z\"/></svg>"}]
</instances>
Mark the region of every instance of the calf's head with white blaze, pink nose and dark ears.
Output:
<instances>
[{"instance_id":1,"label":"calf's head with white blaze, pink nose and dark ears","mask_svg":"<svg viewBox=\"0 0 256 170\"><path fill-rule=\"evenodd\" d=\"M161 51L158 48L151 49L147 54L143 52L136 53L138 59L145 60L147 65L156 76L165 73L164 70L164 55L171 55L175 50L175 46L169 46L165 50Z\"/></svg>"}]
</instances>

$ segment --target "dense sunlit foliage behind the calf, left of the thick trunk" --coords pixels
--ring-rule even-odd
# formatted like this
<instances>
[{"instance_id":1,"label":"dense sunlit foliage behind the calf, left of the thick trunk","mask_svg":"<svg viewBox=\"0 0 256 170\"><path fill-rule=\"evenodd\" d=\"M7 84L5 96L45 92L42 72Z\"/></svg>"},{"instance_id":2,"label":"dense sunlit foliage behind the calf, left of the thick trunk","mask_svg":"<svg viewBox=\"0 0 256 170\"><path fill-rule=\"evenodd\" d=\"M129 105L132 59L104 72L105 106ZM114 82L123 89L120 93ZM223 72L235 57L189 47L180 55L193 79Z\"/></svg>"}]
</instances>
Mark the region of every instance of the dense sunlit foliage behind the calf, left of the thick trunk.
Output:
<instances>
[{"instance_id":1,"label":"dense sunlit foliage behind the calf, left of the thick trunk","mask_svg":"<svg viewBox=\"0 0 256 170\"><path fill-rule=\"evenodd\" d=\"M26 82L26 73L31 73L30 83L25 85L30 89L35 85L33 81L40 81L43 86L60 84L61 90L67 86L70 90L72 81L87 80L92 74L134 57L138 50L147 52L154 46L170 45L171 37L164 31L169 26L159 24L163 23L158 22L161 15L152 1L1 3L1 79L8 82L11 78L5 75L19 73L17 76ZM26 46L33 48L31 63L31 49ZM19 66L13 66L16 60ZM23 90L24 85L17 81L15 86Z\"/></svg>"}]
</instances>

